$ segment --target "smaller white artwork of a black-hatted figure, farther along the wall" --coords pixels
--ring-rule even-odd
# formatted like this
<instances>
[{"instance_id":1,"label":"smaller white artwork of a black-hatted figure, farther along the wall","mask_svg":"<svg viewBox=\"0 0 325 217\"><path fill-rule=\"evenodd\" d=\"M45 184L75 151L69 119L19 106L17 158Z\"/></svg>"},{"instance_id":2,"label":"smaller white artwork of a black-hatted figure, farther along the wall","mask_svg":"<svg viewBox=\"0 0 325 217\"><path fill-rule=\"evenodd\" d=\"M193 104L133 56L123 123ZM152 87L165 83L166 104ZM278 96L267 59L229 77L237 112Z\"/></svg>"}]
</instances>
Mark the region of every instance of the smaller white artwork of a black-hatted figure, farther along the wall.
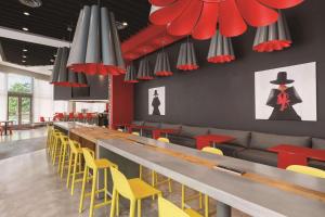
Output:
<instances>
[{"instance_id":1,"label":"smaller white artwork of a black-hatted figure, farther along the wall","mask_svg":"<svg viewBox=\"0 0 325 217\"><path fill-rule=\"evenodd\" d=\"M148 114L165 115L165 87L148 89Z\"/></svg>"}]
</instances>

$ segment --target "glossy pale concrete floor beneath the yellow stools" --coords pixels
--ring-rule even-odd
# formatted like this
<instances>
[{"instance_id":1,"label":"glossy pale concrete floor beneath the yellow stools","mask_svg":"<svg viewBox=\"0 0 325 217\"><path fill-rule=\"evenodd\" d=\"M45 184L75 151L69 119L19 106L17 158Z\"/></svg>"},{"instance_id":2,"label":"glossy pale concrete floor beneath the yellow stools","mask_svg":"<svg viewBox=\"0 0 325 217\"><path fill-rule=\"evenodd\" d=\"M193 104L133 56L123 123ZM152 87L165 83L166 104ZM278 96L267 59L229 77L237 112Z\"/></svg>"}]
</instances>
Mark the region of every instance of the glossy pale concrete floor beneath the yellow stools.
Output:
<instances>
[{"instance_id":1,"label":"glossy pale concrete floor beneath the yellow stools","mask_svg":"<svg viewBox=\"0 0 325 217\"><path fill-rule=\"evenodd\" d=\"M24 141L30 140L16 142ZM66 180L61 180L56 167L49 164L44 149L0 159L0 170L1 217L88 216L89 203L84 204L84 212L78 214L79 186L77 186L76 194L70 196L65 187ZM165 195L180 205L180 189L179 183L173 183L173 193L166 193ZM211 201L211 208L214 202ZM197 203L191 205L197 207ZM96 209L94 216L107 217L108 214L109 206ZM128 207L122 208L120 216L127 217L128 215ZM146 200L143 204L143 217L155 216L157 216L156 201ZM211 216L216 216L216 214ZM243 217L246 215L233 210L233 216Z\"/></svg>"}]
</instances>

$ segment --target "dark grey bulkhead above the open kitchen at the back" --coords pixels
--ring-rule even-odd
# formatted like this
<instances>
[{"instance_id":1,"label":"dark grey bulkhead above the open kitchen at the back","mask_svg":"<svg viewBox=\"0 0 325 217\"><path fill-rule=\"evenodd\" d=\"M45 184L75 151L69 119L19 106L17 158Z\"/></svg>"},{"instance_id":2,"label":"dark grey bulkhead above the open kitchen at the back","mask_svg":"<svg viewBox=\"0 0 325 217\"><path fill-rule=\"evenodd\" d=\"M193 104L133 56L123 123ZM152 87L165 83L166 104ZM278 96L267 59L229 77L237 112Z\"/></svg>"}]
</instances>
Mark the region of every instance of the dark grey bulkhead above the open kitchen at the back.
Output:
<instances>
[{"instance_id":1,"label":"dark grey bulkhead above the open kitchen at the back","mask_svg":"<svg viewBox=\"0 0 325 217\"><path fill-rule=\"evenodd\" d=\"M87 76L89 84L89 95L83 88L76 88L74 97L72 88L54 86L54 100L107 100L108 99L108 76ZM76 95L75 94L75 95Z\"/></svg>"}]
</instances>

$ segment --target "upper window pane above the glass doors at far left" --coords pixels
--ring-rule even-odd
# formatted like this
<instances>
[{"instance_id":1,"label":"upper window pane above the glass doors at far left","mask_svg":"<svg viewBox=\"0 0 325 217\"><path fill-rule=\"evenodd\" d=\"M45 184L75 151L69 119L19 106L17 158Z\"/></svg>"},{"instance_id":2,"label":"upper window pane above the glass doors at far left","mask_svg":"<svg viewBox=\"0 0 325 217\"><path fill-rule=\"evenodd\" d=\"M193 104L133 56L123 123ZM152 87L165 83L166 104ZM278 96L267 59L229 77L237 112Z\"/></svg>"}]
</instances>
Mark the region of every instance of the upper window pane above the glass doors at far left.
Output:
<instances>
[{"instance_id":1,"label":"upper window pane above the glass doors at far left","mask_svg":"<svg viewBox=\"0 0 325 217\"><path fill-rule=\"evenodd\" d=\"M32 78L28 76L9 74L8 75L8 91L32 93Z\"/></svg>"}]
</instances>

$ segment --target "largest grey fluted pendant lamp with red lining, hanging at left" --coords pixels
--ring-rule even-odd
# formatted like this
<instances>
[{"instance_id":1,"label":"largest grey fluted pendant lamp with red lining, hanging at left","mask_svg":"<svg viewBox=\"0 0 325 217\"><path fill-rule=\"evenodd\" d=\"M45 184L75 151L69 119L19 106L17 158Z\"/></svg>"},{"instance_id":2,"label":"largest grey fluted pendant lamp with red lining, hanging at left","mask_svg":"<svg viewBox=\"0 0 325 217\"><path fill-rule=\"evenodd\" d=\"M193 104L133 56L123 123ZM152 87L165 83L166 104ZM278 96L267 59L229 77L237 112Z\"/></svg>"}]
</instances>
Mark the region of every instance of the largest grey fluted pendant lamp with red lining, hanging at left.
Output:
<instances>
[{"instance_id":1,"label":"largest grey fluted pendant lamp with red lining, hanging at left","mask_svg":"<svg viewBox=\"0 0 325 217\"><path fill-rule=\"evenodd\" d=\"M107 8L80 11L67 67L90 75L126 73L115 16Z\"/></svg>"}]
</instances>

